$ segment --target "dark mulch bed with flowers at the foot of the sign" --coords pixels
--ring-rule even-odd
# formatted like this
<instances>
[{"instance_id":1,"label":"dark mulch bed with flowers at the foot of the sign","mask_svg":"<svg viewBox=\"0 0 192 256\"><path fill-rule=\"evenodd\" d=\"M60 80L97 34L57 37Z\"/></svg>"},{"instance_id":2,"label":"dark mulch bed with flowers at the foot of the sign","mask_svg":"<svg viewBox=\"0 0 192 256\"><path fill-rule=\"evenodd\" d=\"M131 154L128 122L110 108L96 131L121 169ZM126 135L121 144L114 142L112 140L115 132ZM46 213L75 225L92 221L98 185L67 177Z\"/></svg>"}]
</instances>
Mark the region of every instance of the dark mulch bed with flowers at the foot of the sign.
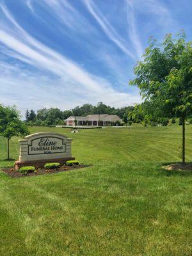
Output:
<instances>
[{"instance_id":1,"label":"dark mulch bed with flowers at the foot of the sign","mask_svg":"<svg viewBox=\"0 0 192 256\"><path fill-rule=\"evenodd\" d=\"M20 178L20 177L26 177L26 176L36 176L36 175L50 174L50 173L57 173L57 172L67 172L70 170L81 169L85 167L89 167L89 166L84 164L79 164L74 166L61 166L60 168L49 169L49 170L46 170L44 168L36 168L36 172L27 173L25 175L14 170L14 168L2 168L2 170L4 173L6 173L12 178Z\"/></svg>"}]
</instances>

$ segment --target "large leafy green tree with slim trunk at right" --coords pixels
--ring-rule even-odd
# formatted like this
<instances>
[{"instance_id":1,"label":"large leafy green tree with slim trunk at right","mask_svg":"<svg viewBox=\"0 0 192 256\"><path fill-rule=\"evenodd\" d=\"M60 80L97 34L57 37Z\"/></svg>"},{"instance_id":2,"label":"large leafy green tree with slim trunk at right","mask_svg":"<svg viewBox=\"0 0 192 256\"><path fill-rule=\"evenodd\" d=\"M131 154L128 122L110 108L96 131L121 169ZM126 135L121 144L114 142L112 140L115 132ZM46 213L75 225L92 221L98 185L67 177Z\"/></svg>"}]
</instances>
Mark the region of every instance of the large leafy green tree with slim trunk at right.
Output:
<instances>
[{"instance_id":1,"label":"large leafy green tree with slim trunk at right","mask_svg":"<svg viewBox=\"0 0 192 256\"><path fill-rule=\"evenodd\" d=\"M185 164L185 122L192 111L192 43L185 34L166 35L162 44L150 39L130 84L140 88L148 113L182 120L182 163Z\"/></svg>"}]
</instances>

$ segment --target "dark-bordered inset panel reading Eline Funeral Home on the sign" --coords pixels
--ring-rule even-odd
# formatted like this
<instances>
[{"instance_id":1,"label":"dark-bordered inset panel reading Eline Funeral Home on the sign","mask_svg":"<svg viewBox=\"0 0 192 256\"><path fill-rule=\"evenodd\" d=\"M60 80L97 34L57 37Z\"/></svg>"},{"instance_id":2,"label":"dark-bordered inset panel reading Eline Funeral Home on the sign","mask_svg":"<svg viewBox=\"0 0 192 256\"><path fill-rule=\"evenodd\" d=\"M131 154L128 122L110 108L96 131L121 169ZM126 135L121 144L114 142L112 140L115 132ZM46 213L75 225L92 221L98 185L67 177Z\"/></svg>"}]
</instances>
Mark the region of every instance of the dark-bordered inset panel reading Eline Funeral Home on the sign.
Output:
<instances>
[{"instance_id":1,"label":"dark-bordered inset panel reading Eline Funeral Home on the sign","mask_svg":"<svg viewBox=\"0 0 192 256\"><path fill-rule=\"evenodd\" d=\"M65 142L56 136L45 136L31 140L29 155L65 153Z\"/></svg>"}]
</instances>

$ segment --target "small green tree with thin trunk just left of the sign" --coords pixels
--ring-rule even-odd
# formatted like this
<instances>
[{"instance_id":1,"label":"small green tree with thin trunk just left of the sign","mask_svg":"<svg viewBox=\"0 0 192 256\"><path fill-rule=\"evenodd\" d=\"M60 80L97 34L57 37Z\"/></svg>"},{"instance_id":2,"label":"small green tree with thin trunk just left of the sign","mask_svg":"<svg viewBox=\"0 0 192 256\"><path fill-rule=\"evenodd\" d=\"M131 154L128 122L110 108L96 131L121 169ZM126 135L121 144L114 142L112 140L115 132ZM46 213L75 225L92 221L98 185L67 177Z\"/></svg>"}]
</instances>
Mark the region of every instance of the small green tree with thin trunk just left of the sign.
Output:
<instances>
[{"instance_id":1,"label":"small green tree with thin trunk just left of the sign","mask_svg":"<svg viewBox=\"0 0 192 256\"><path fill-rule=\"evenodd\" d=\"M10 139L29 134L28 127L19 119L19 111L0 105L0 135L7 139L7 158L10 159Z\"/></svg>"}]
</instances>

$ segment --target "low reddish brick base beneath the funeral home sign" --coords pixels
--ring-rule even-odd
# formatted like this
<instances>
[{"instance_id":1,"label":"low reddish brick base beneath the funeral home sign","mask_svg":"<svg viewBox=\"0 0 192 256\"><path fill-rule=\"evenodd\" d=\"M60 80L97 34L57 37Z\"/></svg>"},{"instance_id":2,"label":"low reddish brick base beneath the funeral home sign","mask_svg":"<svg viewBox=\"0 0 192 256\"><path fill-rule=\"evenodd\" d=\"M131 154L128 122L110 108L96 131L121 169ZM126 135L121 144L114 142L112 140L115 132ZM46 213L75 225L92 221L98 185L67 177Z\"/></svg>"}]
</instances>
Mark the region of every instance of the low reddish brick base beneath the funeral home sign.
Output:
<instances>
[{"instance_id":1,"label":"low reddish brick base beneath the funeral home sign","mask_svg":"<svg viewBox=\"0 0 192 256\"><path fill-rule=\"evenodd\" d=\"M60 163L65 164L68 160L75 160L76 157L65 157L58 159L47 159L47 160L34 160L34 161L15 161L15 170L19 170L22 166L35 166L37 168L44 168L46 163Z\"/></svg>"}]
</instances>

